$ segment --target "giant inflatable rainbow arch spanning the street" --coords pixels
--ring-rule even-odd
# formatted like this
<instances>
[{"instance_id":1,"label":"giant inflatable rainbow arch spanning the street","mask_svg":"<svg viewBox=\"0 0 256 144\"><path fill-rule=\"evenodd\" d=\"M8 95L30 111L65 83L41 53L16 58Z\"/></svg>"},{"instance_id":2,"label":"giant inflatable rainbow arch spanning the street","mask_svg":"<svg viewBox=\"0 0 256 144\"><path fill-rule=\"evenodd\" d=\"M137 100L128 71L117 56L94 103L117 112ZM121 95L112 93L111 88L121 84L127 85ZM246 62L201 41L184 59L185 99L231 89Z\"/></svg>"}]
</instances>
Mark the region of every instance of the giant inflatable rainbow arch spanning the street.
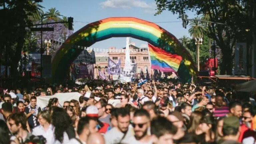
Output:
<instances>
[{"instance_id":1,"label":"giant inflatable rainbow arch spanning the street","mask_svg":"<svg viewBox=\"0 0 256 144\"><path fill-rule=\"evenodd\" d=\"M190 82L197 70L189 52L171 33L155 23L134 17L110 17L90 23L71 36L61 45L52 60L54 83L60 83L66 76L70 64L81 53L77 46L90 47L98 41L111 37L132 37L161 47L167 52L182 57L178 75L184 82Z\"/></svg>"}]
</instances>

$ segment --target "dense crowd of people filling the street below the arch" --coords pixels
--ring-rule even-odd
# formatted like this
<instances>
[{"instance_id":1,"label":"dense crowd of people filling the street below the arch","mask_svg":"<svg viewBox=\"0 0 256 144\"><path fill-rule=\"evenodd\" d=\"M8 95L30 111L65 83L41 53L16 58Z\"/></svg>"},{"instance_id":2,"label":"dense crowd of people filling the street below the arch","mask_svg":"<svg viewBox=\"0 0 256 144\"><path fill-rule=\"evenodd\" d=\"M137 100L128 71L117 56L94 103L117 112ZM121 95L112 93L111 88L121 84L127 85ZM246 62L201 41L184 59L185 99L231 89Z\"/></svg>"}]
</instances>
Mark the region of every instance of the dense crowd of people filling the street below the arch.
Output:
<instances>
[{"instance_id":1,"label":"dense crowd of people filling the street below the arch","mask_svg":"<svg viewBox=\"0 0 256 144\"><path fill-rule=\"evenodd\" d=\"M62 105L54 97L38 106L38 97L69 92L79 100ZM0 96L0 144L255 143L255 94L231 87L151 80L5 89Z\"/></svg>"}]
</instances>

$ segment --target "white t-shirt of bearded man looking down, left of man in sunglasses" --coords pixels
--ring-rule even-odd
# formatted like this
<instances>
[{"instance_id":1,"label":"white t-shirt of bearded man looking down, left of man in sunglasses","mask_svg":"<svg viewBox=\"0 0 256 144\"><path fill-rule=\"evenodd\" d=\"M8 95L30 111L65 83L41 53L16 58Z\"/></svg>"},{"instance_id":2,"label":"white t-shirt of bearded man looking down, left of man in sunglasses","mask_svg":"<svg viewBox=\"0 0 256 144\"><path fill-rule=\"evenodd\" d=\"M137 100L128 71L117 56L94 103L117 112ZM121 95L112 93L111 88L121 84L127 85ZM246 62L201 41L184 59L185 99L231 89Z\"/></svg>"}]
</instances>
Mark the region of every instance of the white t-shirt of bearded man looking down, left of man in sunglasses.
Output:
<instances>
[{"instance_id":1,"label":"white t-shirt of bearded man looking down, left of man in sunglasses","mask_svg":"<svg viewBox=\"0 0 256 144\"><path fill-rule=\"evenodd\" d=\"M123 138L122 141L124 141L133 135L132 132L133 132L133 128L129 126L128 131L125 137L123 138L124 133L119 131L118 128L114 127L104 135L105 144L117 144L121 141L122 138Z\"/></svg>"}]
</instances>

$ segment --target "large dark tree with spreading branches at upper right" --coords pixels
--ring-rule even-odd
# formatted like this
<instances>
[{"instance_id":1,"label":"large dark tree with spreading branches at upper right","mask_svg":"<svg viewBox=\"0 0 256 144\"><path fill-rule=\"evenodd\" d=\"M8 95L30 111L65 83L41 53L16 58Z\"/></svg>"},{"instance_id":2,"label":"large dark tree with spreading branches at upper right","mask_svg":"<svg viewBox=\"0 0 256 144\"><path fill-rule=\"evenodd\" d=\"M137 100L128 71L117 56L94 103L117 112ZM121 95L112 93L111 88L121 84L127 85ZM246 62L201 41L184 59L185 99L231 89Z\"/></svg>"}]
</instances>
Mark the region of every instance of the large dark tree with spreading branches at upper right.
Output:
<instances>
[{"instance_id":1,"label":"large dark tree with spreading branches at upper right","mask_svg":"<svg viewBox=\"0 0 256 144\"><path fill-rule=\"evenodd\" d=\"M224 23L219 25L211 23L207 26L209 38L216 41L222 52L220 74L232 74L232 61L234 58L234 45L237 40L246 35L245 29L255 31L255 18L247 14L251 8L248 0L220 0L220 1L191 1L191 0L156 0L157 13L169 10L173 14L184 14L185 11L195 11L197 15L209 15L209 20Z\"/></svg>"}]
</instances>

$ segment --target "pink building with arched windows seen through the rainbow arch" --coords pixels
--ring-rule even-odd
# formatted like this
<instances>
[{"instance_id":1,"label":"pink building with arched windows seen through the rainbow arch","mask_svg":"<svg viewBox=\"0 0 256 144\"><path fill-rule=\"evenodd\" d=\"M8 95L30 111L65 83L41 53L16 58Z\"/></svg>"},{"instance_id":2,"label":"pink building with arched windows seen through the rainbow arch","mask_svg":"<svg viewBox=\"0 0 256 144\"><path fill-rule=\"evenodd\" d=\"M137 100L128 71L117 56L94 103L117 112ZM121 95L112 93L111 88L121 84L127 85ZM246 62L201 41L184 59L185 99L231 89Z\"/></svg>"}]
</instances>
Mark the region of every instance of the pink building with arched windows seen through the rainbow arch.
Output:
<instances>
[{"instance_id":1,"label":"pink building with arched windows seen through the rainbow arch","mask_svg":"<svg viewBox=\"0 0 256 144\"><path fill-rule=\"evenodd\" d=\"M108 68L108 57L117 62L121 58L121 70L124 68L125 64L125 48L122 49L116 49L115 47L109 47L108 53L95 53L96 58L96 64L94 64L94 68L105 69L105 74L107 74L107 68ZM150 66L150 57L148 53L148 48L138 48L135 46L135 43L130 44L130 61L137 63L137 74L140 76L141 69L143 70L143 73L146 74L146 70L148 69L149 75L153 73L153 70L151 71ZM98 75L98 70L94 71L95 76Z\"/></svg>"}]
</instances>

